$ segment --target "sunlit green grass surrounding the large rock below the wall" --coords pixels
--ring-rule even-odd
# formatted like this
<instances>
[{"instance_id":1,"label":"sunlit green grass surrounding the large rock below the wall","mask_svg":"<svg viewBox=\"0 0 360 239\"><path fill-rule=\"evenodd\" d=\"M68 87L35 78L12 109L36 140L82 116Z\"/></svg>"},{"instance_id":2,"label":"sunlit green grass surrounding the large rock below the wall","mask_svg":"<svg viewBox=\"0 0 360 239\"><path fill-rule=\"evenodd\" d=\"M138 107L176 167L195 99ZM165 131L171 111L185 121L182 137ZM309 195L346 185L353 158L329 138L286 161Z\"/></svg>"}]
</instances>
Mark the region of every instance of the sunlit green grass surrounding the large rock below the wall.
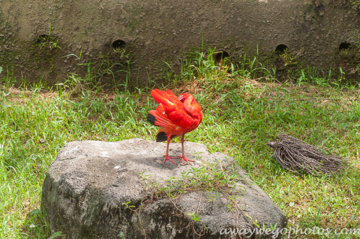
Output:
<instances>
[{"instance_id":1,"label":"sunlit green grass surrounding the large rock below the wall","mask_svg":"<svg viewBox=\"0 0 360 239\"><path fill-rule=\"evenodd\" d=\"M203 109L202 123L185 140L232 156L284 211L288 227L360 228L360 90L320 76L321 84L315 85L305 81L309 77L276 83L256 59L244 60L237 70L231 64L218 70L211 57L198 56L172 76L176 80L169 86L178 95L191 92ZM296 79L303 74L299 72ZM41 84L25 90L3 80L0 238L47 239L46 215L36 209L45 173L61 147L73 140L154 140L157 129L146 116L156 104L149 90L104 92L84 81L79 81L82 87L58 92L45 91ZM282 132L348 157L351 165L334 176L290 173L265 144Z\"/></svg>"}]
</instances>

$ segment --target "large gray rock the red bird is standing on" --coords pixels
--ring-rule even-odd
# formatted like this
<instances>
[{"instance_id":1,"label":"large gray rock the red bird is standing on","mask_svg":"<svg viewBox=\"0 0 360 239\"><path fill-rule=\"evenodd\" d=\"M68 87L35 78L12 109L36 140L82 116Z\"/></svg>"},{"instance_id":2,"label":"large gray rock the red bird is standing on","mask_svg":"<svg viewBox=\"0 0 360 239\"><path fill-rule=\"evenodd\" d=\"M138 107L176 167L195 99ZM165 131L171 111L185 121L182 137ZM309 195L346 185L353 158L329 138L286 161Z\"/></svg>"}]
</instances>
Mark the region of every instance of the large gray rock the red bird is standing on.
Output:
<instances>
[{"instance_id":1,"label":"large gray rock the red bird is standing on","mask_svg":"<svg viewBox=\"0 0 360 239\"><path fill-rule=\"evenodd\" d=\"M42 187L42 206L51 230L63 232L67 239L140 239L146 238L145 233L151 239L196 238L197 234L205 239L224 239L238 238L221 234L236 227L253 229L254 221L267 228L286 226L284 213L240 169L236 182L240 193L232 193L232 197L238 196L238 210L229 210L226 188L211 202L208 196L216 195L216 189L196 189L175 199L153 197L150 203L145 202L154 187L146 185L139 173L146 171L144 175L151 175L150 180L165 187L169 177L180 177L191 167L203 167L201 160L220 159L223 168L232 160L221 153L209 154L203 144L185 142L184 147L190 159L202 152L193 166L180 165L177 159L177 164L163 163L166 143L143 139L67 143L51 164ZM171 156L180 153L180 143L170 145ZM133 209L143 207L132 212L124 205L130 201ZM188 214L194 212L201 221L191 220Z\"/></svg>"}]
</instances>

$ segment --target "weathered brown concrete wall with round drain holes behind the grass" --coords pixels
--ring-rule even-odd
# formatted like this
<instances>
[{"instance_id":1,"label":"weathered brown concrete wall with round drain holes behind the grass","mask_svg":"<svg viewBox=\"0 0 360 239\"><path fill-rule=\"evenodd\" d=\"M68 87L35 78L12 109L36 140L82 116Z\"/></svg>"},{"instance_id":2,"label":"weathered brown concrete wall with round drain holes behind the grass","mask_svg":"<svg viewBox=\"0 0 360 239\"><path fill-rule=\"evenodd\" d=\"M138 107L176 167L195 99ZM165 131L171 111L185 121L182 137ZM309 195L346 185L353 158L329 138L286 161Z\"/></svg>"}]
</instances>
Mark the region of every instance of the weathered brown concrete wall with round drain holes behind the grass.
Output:
<instances>
[{"instance_id":1,"label":"weathered brown concrete wall with round drain holes behind the grass","mask_svg":"<svg viewBox=\"0 0 360 239\"><path fill-rule=\"evenodd\" d=\"M96 74L111 78L111 72L128 70L128 61L134 79L145 84L148 75L159 76L165 69L163 60L179 70L180 59L203 41L205 49L216 46L235 63L247 51L255 54L258 45L261 58L276 65L274 52L283 44L303 66L328 70L343 65L350 72L360 46L360 16L342 2L2 0L0 65L13 69L19 82L44 76L51 85L67 73L84 74L87 68L78 68L79 63L91 61ZM120 47L114 50L117 40ZM351 59L341 57L342 43L352 46ZM80 52L80 60L63 57ZM115 81L123 82L125 75L116 73Z\"/></svg>"}]
</instances>

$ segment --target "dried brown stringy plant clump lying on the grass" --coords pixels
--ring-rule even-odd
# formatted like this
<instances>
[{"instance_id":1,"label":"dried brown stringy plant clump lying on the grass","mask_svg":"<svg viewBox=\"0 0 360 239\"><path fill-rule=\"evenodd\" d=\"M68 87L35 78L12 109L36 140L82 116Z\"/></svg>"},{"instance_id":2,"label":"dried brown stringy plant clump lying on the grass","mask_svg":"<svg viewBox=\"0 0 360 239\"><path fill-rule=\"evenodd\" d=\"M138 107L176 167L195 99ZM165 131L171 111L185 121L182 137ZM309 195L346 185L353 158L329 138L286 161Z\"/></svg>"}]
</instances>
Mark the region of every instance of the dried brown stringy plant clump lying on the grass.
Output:
<instances>
[{"instance_id":1,"label":"dried brown stringy plant clump lying on the grass","mask_svg":"<svg viewBox=\"0 0 360 239\"><path fill-rule=\"evenodd\" d=\"M322 153L322 149L285 133L278 134L276 142L266 144L273 148L274 159L292 172L331 174L345 169L348 165L348 161L341 156Z\"/></svg>"}]
</instances>

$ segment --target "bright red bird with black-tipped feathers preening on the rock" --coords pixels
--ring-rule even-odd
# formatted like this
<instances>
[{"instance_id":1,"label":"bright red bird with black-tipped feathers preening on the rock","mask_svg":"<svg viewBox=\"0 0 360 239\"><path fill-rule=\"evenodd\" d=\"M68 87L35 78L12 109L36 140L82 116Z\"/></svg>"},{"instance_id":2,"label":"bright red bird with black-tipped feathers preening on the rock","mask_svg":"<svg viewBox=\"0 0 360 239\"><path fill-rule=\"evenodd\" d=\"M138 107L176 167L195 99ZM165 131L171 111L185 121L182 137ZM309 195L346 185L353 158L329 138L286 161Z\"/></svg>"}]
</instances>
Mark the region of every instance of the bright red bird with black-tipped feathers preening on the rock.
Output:
<instances>
[{"instance_id":1,"label":"bright red bird with black-tipped feathers preening on the rock","mask_svg":"<svg viewBox=\"0 0 360 239\"><path fill-rule=\"evenodd\" d=\"M200 124L202 120L201 106L197 103L191 94L182 94L179 99L170 90L161 91L155 89L151 92L159 106L154 111L149 111L146 118L149 123L162 127L156 135L157 142L168 140L164 163L167 159L175 163L168 155L170 139L181 136L182 156L179 156L186 162L194 160L187 159L184 155L184 135ZM181 162L180 161L180 162ZM191 163L188 162L190 165Z\"/></svg>"}]
</instances>

